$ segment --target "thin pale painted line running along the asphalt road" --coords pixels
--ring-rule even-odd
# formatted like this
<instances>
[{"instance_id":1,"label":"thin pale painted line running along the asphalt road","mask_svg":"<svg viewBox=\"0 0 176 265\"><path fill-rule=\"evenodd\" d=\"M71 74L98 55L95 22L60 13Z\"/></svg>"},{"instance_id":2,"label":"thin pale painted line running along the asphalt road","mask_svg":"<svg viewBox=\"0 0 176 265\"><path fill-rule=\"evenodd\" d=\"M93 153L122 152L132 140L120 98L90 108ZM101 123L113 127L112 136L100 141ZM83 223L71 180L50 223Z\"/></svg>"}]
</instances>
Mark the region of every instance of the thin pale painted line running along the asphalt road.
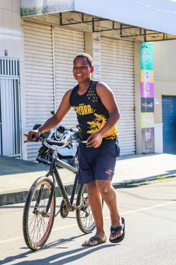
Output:
<instances>
[{"instance_id":1,"label":"thin pale painted line running along the asphalt road","mask_svg":"<svg viewBox=\"0 0 176 265\"><path fill-rule=\"evenodd\" d=\"M156 208L156 207L165 206L165 205L172 204L172 203L176 203L176 201L170 201L170 202L167 202L167 203L157 204L157 205L154 205L154 206L145 207L145 208L141 208L141 209L136 209L136 210L133 210L133 211L128 211L128 212L124 212L124 213L120 213L120 214L124 215L124 214L129 214L129 213L136 213L136 212L145 211L145 210L149 210L149 209ZM110 218L110 216L104 217L104 219L108 219L108 218ZM77 223L74 223L74 224L71 224L71 225L68 225L68 226L61 226L61 227L53 228L52 231L62 230L62 229L70 228L70 227L73 227L73 226L77 226ZM21 238L23 238L23 236L17 236L17 237L12 237L12 238L9 238L9 239L6 239L6 240L1 240L0 244L11 242L11 241L15 241L15 240L19 240Z\"/></svg>"}]
</instances>

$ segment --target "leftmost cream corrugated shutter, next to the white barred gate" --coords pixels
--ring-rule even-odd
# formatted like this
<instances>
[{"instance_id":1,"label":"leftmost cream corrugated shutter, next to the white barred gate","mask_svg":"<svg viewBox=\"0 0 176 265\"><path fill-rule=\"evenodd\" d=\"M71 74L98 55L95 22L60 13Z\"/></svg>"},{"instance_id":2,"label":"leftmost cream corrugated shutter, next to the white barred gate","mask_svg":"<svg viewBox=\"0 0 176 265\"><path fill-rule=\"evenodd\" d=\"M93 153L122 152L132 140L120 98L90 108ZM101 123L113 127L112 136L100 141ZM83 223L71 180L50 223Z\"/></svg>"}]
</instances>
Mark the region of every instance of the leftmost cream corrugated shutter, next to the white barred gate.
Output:
<instances>
[{"instance_id":1,"label":"leftmost cream corrugated shutter, next to the white barred gate","mask_svg":"<svg viewBox=\"0 0 176 265\"><path fill-rule=\"evenodd\" d=\"M52 27L24 20L26 130L42 124L54 110ZM41 143L27 144L29 160L36 160Z\"/></svg>"}]
</instances>

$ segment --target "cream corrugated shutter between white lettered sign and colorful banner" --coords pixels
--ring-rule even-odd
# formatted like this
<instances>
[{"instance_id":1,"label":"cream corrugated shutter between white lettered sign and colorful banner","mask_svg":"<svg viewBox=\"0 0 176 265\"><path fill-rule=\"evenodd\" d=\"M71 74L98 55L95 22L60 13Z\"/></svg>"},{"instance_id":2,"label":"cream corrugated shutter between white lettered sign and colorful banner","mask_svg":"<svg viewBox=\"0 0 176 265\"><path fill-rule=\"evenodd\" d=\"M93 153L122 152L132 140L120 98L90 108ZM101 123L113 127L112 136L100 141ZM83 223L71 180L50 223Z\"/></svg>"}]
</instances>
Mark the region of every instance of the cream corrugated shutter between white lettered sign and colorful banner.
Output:
<instances>
[{"instance_id":1,"label":"cream corrugated shutter between white lettered sign and colorful banner","mask_svg":"<svg viewBox=\"0 0 176 265\"><path fill-rule=\"evenodd\" d=\"M117 124L121 154L134 154L133 42L101 36L101 81L113 90L121 113Z\"/></svg>"}]
</instances>

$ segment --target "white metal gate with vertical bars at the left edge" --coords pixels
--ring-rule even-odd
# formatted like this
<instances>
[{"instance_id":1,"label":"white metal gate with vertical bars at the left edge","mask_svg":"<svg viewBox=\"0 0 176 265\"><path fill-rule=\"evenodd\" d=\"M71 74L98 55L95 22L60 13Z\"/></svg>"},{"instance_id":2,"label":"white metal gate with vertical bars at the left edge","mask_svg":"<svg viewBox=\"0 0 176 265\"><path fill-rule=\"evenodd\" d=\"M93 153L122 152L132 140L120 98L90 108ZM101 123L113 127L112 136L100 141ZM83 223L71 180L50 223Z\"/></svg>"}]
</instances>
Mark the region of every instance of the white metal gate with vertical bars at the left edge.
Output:
<instances>
[{"instance_id":1,"label":"white metal gate with vertical bars at the left edge","mask_svg":"<svg viewBox=\"0 0 176 265\"><path fill-rule=\"evenodd\" d=\"M0 58L0 154L21 156L18 59Z\"/></svg>"}]
</instances>

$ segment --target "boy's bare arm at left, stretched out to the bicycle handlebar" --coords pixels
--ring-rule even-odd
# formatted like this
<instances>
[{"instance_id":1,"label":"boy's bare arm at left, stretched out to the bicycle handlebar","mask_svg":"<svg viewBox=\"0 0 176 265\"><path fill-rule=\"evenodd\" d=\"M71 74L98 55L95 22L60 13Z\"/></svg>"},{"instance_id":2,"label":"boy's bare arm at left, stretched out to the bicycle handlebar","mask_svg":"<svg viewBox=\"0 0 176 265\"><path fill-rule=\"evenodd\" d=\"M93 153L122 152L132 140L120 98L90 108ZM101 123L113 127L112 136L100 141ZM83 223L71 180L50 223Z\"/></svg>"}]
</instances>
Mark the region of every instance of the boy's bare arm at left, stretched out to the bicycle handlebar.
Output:
<instances>
[{"instance_id":1,"label":"boy's bare arm at left, stretched out to the bicycle handlebar","mask_svg":"<svg viewBox=\"0 0 176 265\"><path fill-rule=\"evenodd\" d=\"M43 125L41 125L38 128L38 130L32 130L28 132L28 137L27 137L28 142L32 142L33 140L36 140L40 136L41 133L53 129L55 126L57 126L62 121L62 119L65 117L65 115L71 108L71 105L69 103L69 97L70 97L71 92L72 92L72 89L68 90L65 93L57 112L52 117L50 117L47 121L45 121L45 123L43 123Z\"/></svg>"}]
</instances>

